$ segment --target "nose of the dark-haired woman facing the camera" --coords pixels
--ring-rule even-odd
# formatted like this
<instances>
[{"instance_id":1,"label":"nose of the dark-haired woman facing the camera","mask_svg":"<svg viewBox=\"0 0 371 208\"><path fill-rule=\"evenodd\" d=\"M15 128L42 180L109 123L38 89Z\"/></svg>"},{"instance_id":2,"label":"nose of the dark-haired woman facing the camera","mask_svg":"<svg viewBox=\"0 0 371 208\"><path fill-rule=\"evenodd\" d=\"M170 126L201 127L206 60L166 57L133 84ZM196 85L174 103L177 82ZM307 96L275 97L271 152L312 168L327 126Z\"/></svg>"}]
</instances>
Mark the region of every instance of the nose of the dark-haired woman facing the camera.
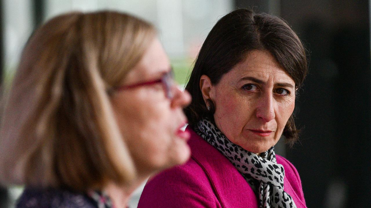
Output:
<instances>
[{"instance_id":1,"label":"nose of the dark-haired woman facing the camera","mask_svg":"<svg viewBox=\"0 0 371 208\"><path fill-rule=\"evenodd\" d=\"M276 117L275 100L272 94L264 95L258 100L256 108L256 117L268 123Z\"/></svg>"}]
</instances>

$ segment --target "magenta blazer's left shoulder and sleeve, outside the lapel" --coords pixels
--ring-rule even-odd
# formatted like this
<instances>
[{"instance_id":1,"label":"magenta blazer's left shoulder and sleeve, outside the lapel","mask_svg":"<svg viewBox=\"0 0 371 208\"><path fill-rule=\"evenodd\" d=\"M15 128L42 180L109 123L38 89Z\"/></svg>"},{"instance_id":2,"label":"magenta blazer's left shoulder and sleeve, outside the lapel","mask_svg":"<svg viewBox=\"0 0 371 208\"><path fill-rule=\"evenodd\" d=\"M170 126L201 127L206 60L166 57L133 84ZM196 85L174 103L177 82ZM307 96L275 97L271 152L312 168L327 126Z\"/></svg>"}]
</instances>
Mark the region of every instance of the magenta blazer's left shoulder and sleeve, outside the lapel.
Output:
<instances>
[{"instance_id":1,"label":"magenta blazer's left shoulder and sleeve, outside the lapel","mask_svg":"<svg viewBox=\"0 0 371 208\"><path fill-rule=\"evenodd\" d=\"M150 178L143 189L138 208L216 208L219 207L218 203L206 173L190 158L186 164Z\"/></svg>"}]
</instances>

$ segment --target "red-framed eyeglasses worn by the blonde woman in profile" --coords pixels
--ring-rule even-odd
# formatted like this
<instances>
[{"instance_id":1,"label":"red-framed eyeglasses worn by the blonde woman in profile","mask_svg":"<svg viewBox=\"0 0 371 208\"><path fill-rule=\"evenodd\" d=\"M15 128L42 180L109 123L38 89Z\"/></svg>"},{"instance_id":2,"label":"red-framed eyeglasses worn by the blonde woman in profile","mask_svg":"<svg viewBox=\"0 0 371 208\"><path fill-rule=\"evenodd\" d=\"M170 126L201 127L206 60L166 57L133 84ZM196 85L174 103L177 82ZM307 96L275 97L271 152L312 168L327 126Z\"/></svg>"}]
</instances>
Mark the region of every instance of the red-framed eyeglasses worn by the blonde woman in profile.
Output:
<instances>
[{"instance_id":1,"label":"red-framed eyeglasses worn by the blonde woman in profile","mask_svg":"<svg viewBox=\"0 0 371 208\"><path fill-rule=\"evenodd\" d=\"M174 85L174 71L173 68L170 68L170 71L162 75L162 77L158 80L143 82L143 83L137 83L127 86L121 86L116 88L115 90L129 90L132 88L137 88L145 85L152 85L152 84L158 84L161 83L164 87L165 95L169 100L172 100L174 98L174 93L172 92L172 87Z\"/></svg>"}]
</instances>

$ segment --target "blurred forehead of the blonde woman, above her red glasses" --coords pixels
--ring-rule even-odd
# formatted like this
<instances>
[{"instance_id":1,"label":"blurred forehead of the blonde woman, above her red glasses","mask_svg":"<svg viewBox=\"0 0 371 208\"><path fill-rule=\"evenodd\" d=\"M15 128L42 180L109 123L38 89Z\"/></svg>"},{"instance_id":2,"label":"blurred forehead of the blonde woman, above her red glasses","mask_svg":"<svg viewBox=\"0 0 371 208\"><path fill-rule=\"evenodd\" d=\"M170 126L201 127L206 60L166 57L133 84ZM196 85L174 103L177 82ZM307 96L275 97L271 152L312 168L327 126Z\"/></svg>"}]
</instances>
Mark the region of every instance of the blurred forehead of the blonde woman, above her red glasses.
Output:
<instances>
[{"instance_id":1,"label":"blurred forehead of the blonde woman, above her red glasses","mask_svg":"<svg viewBox=\"0 0 371 208\"><path fill-rule=\"evenodd\" d=\"M126 83L158 78L170 69L170 61L158 38L148 46L139 63L132 69L125 79Z\"/></svg>"}]
</instances>

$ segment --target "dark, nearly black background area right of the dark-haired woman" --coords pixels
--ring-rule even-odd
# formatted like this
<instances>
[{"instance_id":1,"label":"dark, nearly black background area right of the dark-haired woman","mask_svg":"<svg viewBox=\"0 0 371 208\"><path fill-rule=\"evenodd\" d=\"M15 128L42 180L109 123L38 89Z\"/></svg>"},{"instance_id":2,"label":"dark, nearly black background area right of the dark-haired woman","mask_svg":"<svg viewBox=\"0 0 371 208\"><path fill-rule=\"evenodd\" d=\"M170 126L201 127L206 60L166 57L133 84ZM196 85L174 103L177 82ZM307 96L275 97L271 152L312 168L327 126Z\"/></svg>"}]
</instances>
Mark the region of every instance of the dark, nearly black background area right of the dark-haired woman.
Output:
<instances>
[{"instance_id":1,"label":"dark, nearly black background area right of the dark-haired woman","mask_svg":"<svg viewBox=\"0 0 371 208\"><path fill-rule=\"evenodd\" d=\"M368 1L281 1L311 55L297 102L301 145L288 152L308 207L370 207L371 71Z\"/></svg>"}]
</instances>

